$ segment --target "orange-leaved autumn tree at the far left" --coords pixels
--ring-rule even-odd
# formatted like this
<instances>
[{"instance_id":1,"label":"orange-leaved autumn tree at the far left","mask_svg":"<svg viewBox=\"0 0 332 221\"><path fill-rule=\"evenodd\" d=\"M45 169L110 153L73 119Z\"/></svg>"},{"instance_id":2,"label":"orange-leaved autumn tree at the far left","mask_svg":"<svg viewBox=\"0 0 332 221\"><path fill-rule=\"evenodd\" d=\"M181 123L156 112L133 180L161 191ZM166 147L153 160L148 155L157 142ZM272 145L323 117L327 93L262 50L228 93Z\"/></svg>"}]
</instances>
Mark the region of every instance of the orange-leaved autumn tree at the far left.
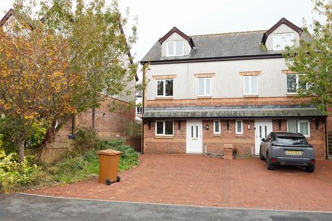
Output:
<instances>
[{"instance_id":1,"label":"orange-leaved autumn tree at the far left","mask_svg":"<svg viewBox=\"0 0 332 221\"><path fill-rule=\"evenodd\" d=\"M65 72L68 43L40 25L31 31L17 17L0 30L0 111L19 146L20 160L34 123L50 124L54 112L75 112L68 102L69 85L75 84L75 76Z\"/></svg>"}]
</instances>

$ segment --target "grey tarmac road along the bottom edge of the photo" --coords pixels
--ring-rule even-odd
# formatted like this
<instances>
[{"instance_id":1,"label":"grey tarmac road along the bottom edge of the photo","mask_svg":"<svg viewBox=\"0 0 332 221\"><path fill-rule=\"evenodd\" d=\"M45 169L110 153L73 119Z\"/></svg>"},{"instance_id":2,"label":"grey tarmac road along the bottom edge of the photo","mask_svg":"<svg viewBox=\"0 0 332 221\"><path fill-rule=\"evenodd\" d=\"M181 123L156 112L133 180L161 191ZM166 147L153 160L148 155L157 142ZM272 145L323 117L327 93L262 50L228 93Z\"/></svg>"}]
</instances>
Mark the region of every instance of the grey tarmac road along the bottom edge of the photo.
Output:
<instances>
[{"instance_id":1,"label":"grey tarmac road along the bottom edge of the photo","mask_svg":"<svg viewBox=\"0 0 332 221\"><path fill-rule=\"evenodd\" d=\"M77 200L16 193L0 195L0 220L331 221L332 213Z\"/></svg>"}]
</instances>

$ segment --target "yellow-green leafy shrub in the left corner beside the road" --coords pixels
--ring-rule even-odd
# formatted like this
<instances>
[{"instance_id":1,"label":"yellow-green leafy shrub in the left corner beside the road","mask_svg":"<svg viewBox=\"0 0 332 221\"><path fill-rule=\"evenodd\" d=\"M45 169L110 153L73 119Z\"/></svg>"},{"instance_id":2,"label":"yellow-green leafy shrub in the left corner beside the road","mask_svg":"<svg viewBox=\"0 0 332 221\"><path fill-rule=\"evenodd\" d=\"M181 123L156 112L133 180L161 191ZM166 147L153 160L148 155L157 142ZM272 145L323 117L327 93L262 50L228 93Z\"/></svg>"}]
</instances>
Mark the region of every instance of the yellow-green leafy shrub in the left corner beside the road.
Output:
<instances>
[{"instance_id":1,"label":"yellow-green leafy shrub in the left corner beside the road","mask_svg":"<svg viewBox=\"0 0 332 221\"><path fill-rule=\"evenodd\" d=\"M0 191L19 190L43 180L44 173L41 167L33 162L33 156L27 156L19 163L16 153L6 155L4 151L0 151Z\"/></svg>"}]
</instances>

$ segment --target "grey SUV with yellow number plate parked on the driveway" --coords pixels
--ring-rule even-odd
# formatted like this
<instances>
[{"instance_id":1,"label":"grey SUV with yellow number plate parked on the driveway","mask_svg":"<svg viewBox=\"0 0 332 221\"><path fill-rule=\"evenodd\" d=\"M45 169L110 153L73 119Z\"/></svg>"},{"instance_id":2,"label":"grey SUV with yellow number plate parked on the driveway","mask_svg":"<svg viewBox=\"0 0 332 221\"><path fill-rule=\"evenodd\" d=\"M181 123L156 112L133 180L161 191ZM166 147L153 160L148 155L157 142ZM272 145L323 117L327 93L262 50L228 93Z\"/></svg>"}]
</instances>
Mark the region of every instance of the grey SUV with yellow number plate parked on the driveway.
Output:
<instances>
[{"instance_id":1,"label":"grey SUV with yellow number plate parked on the driveway","mask_svg":"<svg viewBox=\"0 0 332 221\"><path fill-rule=\"evenodd\" d=\"M261 139L259 158L266 160L268 170L275 165L299 165L315 171L315 151L301 133L270 133Z\"/></svg>"}]
</instances>

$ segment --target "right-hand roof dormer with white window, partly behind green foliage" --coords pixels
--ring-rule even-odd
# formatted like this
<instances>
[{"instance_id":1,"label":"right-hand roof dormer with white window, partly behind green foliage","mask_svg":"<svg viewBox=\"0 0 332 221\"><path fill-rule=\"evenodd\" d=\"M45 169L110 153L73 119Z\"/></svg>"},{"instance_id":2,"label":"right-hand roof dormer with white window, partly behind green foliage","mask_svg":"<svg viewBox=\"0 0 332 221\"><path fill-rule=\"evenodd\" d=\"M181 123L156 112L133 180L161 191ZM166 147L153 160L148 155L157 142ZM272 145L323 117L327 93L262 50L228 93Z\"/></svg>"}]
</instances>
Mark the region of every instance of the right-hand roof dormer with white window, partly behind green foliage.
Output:
<instances>
[{"instance_id":1,"label":"right-hand roof dormer with white window, partly behind green foliage","mask_svg":"<svg viewBox=\"0 0 332 221\"><path fill-rule=\"evenodd\" d=\"M261 43L267 50L284 50L286 46L299 45L301 32L301 28L282 18L264 33Z\"/></svg>"}]
</instances>

